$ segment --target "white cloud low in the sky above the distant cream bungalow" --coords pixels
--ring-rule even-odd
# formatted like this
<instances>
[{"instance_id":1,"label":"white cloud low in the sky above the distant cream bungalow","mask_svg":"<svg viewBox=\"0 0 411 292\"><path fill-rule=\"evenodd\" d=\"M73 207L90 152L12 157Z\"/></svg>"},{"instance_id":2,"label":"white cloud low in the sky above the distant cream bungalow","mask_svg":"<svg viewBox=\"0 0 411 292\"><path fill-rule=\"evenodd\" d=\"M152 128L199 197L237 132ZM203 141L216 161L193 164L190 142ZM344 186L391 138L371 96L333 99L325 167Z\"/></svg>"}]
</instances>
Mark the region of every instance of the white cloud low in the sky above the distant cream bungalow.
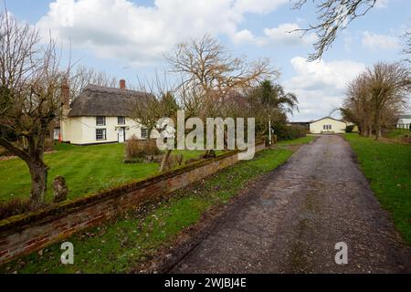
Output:
<instances>
[{"instance_id":1,"label":"white cloud low in the sky above the distant cream bungalow","mask_svg":"<svg viewBox=\"0 0 411 292\"><path fill-rule=\"evenodd\" d=\"M350 60L307 62L304 57L293 57L290 63L297 74L284 84L300 101L300 113L295 113L292 120L327 116L341 106L347 83L365 68L363 63Z\"/></svg>"}]
</instances>

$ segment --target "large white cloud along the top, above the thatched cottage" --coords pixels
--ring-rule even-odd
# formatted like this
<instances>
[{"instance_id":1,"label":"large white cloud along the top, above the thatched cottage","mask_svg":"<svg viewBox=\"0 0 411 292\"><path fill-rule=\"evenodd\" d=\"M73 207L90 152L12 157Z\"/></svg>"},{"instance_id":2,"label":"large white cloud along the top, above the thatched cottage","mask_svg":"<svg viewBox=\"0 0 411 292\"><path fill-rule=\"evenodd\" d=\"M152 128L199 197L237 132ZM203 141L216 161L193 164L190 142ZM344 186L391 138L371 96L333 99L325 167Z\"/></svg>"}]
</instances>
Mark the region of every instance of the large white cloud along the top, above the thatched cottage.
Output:
<instances>
[{"instance_id":1,"label":"large white cloud along the top, above the thatched cottage","mask_svg":"<svg viewBox=\"0 0 411 292\"><path fill-rule=\"evenodd\" d=\"M178 42L205 33L249 40L237 32L247 13L265 14L287 0L155 0L137 5L130 0L56 0L37 23L47 36L70 40L98 57L121 58L134 64L162 57Z\"/></svg>"}]
</instances>

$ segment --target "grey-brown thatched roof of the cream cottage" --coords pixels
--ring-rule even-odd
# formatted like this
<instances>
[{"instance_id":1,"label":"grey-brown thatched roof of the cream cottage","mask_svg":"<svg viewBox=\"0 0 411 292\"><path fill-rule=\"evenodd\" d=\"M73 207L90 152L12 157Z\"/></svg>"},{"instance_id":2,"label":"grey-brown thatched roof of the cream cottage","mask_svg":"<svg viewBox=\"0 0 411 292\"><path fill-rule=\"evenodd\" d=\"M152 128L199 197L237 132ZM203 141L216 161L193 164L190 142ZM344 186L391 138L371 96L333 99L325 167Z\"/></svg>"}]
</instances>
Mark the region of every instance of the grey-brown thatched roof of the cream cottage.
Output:
<instances>
[{"instance_id":1,"label":"grey-brown thatched roof of the cream cottage","mask_svg":"<svg viewBox=\"0 0 411 292\"><path fill-rule=\"evenodd\" d=\"M127 117L148 93L89 84L70 104L68 117Z\"/></svg>"}]
</instances>

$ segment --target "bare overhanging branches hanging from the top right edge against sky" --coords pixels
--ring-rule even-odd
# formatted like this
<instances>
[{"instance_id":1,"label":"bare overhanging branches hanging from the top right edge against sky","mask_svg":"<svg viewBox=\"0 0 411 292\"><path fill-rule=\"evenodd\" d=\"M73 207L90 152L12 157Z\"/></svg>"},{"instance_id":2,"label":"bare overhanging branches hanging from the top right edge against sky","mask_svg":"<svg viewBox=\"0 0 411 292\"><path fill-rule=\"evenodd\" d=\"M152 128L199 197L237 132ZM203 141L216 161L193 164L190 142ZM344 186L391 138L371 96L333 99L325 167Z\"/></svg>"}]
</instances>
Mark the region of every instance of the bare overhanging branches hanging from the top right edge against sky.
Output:
<instances>
[{"instance_id":1,"label":"bare overhanging branches hanging from the top right edge against sky","mask_svg":"<svg viewBox=\"0 0 411 292\"><path fill-rule=\"evenodd\" d=\"M312 0L317 8L317 23L308 28L298 29L304 34L313 31L318 40L314 44L315 52L309 60L320 59L324 51L332 46L337 34L354 19L364 16L372 9L377 0ZM294 9L301 9L307 0L296 0Z\"/></svg>"}]
</instances>

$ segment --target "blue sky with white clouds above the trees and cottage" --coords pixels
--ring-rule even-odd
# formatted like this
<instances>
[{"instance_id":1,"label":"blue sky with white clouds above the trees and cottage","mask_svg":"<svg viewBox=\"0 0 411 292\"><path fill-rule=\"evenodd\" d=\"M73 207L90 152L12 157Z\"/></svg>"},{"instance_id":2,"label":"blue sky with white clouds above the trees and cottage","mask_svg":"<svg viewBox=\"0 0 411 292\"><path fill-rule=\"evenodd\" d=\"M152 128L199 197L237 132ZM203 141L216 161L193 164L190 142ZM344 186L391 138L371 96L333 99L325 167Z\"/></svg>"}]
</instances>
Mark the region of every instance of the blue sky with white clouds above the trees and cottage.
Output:
<instances>
[{"instance_id":1,"label":"blue sky with white clouds above the trees and cottage","mask_svg":"<svg viewBox=\"0 0 411 292\"><path fill-rule=\"evenodd\" d=\"M293 0L5 0L18 21L57 38L71 60L129 83L167 70L176 44L209 34L234 56L269 57L279 83L295 93L291 121L316 120L339 107L347 83L378 61L397 61L411 27L411 0L377 0L343 30L320 61L308 62L313 34L291 30L315 22L308 1ZM70 54L68 54L70 52ZM170 73L171 74L171 73ZM333 114L338 118L338 112Z\"/></svg>"}]
</instances>

